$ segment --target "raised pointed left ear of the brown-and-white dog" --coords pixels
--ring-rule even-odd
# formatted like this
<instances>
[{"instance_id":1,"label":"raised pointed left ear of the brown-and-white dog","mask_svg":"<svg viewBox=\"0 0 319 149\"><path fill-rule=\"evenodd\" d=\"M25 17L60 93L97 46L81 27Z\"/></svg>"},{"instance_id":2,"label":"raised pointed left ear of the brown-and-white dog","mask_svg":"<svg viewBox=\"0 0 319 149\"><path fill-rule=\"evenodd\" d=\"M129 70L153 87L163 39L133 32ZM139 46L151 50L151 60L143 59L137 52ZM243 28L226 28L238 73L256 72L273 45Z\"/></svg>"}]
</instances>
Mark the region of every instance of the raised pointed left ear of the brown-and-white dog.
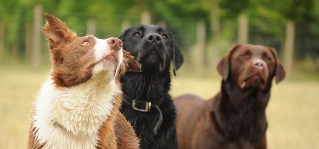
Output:
<instances>
[{"instance_id":1,"label":"raised pointed left ear of the brown-and-white dog","mask_svg":"<svg viewBox=\"0 0 319 149\"><path fill-rule=\"evenodd\" d=\"M46 24L42 28L42 33L49 41L50 49L77 37L61 20L47 13L44 15Z\"/></svg>"}]
</instances>

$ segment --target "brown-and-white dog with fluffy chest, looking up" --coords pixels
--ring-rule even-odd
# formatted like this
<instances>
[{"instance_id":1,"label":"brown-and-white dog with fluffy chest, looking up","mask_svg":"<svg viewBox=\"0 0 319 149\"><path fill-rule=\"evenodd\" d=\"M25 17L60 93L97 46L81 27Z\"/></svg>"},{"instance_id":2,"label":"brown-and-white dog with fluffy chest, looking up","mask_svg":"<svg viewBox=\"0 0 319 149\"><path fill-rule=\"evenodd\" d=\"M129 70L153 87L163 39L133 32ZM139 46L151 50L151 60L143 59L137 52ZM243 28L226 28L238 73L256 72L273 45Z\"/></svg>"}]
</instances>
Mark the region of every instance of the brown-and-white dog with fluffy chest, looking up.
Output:
<instances>
[{"instance_id":1,"label":"brown-and-white dog with fluffy chest, looking up","mask_svg":"<svg viewBox=\"0 0 319 149\"><path fill-rule=\"evenodd\" d=\"M45 14L52 72L32 111L27 149L138 149L139 140L119 112L119 77L139 64L117 38L78 37Z\"/></svg>"}]
</instances>

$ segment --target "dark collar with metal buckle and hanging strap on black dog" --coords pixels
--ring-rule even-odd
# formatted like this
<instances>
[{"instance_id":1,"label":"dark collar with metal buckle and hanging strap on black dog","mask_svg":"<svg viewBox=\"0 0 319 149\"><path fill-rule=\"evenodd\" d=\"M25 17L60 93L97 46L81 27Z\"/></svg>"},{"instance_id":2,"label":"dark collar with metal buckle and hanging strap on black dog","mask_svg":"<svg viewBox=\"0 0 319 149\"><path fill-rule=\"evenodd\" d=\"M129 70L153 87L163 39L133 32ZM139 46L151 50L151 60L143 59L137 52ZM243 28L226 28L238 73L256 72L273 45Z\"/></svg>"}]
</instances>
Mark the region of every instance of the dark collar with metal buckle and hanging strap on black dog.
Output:
<instances>
[{"instance_id":1,"label":"dark collar with metal buckle and hanging strap on black dog","mask_svg":"<svg viewBox=\"0 0 319 149\"><path fill-rule=\"evenodd\" d=\"M162 111L160 110L160 107L158 106L163 101L163 98L160 98L160 100L158 100L157 102L156 101L155 102L145 102L145 101L136 100L136 99L133 99L131 102L131 101L126 100L126 98L123 98L123 101L126 104L131 105L134 110L139 111L139 112L146 112L146 113L151 112L152 106L155 107L160 113L160 118L153 129L154 135L157 134L161 124L163 123L163 114L162 114ZM139 106L139 105L145 105L144 109L138 108L137 106Z\"/></svg>"}]
</instances>

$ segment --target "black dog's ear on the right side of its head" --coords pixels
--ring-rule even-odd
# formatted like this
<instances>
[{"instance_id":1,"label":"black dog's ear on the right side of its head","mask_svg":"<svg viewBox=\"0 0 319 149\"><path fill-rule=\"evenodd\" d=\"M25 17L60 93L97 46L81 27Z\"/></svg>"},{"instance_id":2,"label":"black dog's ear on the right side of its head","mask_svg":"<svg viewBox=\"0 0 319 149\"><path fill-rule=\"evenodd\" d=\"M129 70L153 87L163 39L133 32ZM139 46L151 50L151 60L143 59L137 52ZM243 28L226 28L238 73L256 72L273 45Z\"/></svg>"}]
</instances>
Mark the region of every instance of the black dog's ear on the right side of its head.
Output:
<instances>
[{"instance_id":1,"label":"black dog's ear on the right side of its head","mask_svg":"<svg viewBox=\"0 0 319 149\"><path fill-rule=\"evenodd\" d=\"M173 42L172 63L173 63L173 73L176 76L176 71L184 63L184 57L183 57L183 54L182 54L180 48L175 44L172 34L170 32L168 34Z\"/></svg>"}]
</instances>

